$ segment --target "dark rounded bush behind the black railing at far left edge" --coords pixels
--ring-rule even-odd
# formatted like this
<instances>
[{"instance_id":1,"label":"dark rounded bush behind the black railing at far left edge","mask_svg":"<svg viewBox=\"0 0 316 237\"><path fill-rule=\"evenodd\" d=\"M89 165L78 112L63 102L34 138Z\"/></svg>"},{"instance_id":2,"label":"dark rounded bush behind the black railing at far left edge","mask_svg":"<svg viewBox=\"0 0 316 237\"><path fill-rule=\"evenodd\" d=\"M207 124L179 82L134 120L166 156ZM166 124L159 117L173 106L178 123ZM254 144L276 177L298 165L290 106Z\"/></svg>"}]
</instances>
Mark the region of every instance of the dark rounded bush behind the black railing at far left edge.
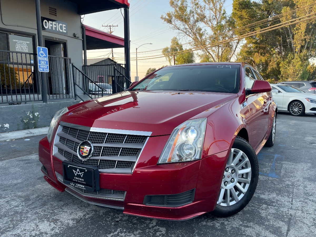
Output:
<instances>
[{"instance_id":1,"label":"dark rounded bush behind the black railing at far left edge","mask_svg":"<svg viewBox=\"0 0 316 237\"><path fill-rule=\"evenodd\" d=\"M8 64L0 64L0 77L2 88L15 89L20 88L20 82L18 81L18 73ZM11 87L10 87L11 83Z\"/></svg>"}]
</instances>

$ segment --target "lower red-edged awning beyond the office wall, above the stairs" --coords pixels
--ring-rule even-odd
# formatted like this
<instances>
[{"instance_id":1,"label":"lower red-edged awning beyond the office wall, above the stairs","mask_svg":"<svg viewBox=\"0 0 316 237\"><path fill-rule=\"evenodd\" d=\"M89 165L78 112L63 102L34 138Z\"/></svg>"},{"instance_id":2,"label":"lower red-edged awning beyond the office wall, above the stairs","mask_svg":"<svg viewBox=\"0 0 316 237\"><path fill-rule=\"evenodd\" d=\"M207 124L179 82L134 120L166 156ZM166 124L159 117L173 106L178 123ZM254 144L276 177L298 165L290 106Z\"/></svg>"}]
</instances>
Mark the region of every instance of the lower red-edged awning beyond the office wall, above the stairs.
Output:
<instances>
[{"instance_id":1,"label":"lower red-edged awning beyond the office wall, above the stairs","mask_svg":"<svg viewBox=\"0 0 316 237\"><path fill-rule=\"evenodd\" d=\"M121 0L124 1L124 0ZM87 50L124 48L124 38L86 26Z\"/></svg>"}]
</instances>

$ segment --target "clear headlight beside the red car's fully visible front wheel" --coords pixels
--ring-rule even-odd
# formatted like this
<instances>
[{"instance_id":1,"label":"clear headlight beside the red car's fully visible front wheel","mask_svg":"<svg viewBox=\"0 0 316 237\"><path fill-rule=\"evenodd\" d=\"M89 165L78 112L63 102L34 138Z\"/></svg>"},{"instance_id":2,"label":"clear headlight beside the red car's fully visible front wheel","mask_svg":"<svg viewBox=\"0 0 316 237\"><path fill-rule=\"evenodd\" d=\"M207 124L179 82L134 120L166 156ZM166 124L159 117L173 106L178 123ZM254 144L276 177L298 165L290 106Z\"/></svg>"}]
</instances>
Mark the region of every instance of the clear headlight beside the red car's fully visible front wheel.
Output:
<instances>
[{"instance_id":1,"label":"clear headlight beside the red car's fully visible front wheel","mask_svg":"<svg viewBox=\"0 0 316 237\"><path fill-rule=\"evenodd\" d=\"M206 120L192 119L176 127L162 151L158 164L201 159Z\"/></svg>"}]
</instances>

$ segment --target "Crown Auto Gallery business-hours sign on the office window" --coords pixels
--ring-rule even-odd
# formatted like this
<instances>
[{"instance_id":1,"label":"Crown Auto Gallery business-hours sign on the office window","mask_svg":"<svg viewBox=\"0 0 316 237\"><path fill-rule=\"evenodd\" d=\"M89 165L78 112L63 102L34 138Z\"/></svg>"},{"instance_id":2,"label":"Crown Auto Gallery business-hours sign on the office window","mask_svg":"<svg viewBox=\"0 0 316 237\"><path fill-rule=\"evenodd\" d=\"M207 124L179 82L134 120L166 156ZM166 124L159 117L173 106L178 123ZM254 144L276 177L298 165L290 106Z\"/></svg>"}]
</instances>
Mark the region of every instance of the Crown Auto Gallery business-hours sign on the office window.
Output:
<instances>
[{"instance_id":1,"label":"Crown Auto Gallery business-hours sign on the office window","mask_svg":"<svg viewBox=\"0 0 316 237\"><path fill-rule=\"evenodd\" d=\"M9 34L9 46L10 51L33 53L32 37Z\"/></svg>"}]
</instances>

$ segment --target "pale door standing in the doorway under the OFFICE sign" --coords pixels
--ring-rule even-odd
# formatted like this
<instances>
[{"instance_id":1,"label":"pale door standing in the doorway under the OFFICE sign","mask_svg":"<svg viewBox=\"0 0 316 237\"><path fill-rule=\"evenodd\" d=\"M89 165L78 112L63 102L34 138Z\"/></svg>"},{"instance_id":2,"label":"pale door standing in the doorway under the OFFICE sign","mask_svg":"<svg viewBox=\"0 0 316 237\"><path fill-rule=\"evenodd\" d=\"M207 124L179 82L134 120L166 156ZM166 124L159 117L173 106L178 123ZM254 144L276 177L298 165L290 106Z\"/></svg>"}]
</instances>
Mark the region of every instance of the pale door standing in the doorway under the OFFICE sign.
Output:
<instances>
[{"instance_id":1,"label":"pale door standing in the doorway under the OFFICE sign","mask_svg":"<svg viewBox=\"0 0 316 237\"><path fill-rule=\"evenodd\" d=\"M58 43L50 45L50 55L56 56L51 58L51 74L52 74L52 93L65 94L65 63L64 63L64 44Z\"/></svg>"}]
</instances>

